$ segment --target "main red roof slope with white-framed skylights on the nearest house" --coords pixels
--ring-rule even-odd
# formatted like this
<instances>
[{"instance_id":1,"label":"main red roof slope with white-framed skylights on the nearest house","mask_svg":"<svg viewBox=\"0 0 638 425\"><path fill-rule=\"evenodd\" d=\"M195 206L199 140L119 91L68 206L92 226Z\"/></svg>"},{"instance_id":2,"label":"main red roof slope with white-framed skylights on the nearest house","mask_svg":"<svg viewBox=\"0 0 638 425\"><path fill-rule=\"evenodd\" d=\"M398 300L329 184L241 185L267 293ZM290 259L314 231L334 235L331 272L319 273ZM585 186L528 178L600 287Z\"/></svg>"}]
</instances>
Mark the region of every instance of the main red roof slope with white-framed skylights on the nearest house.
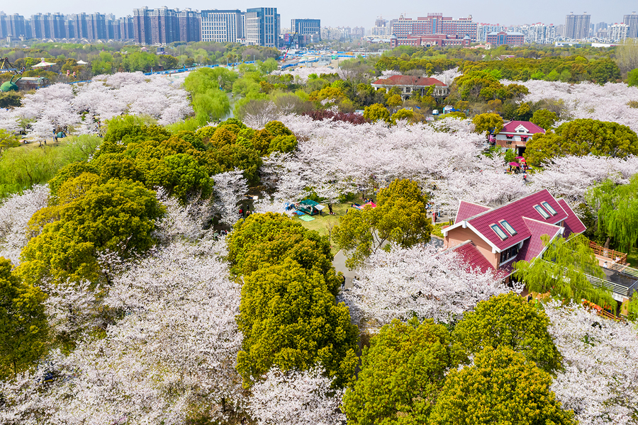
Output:
<instances>
[{"instance_id":1,"label":"main red roof slope with white-framed skylights on the nearest house","mask_svg":"<svg viewBox=\"0 0 638 425\"><path fill-rule=\"evenodd\" d=\"M540 213L535 210L534 206L539 205L542 202L547 202L549 206L554 208L556 215L551 215L550 213L547 219L540 215ZM531 195L525 196L525 198L520 198L498 208L494 208L493 210L470 217L466 221L469 226L476 229L476 232L482 234L483 237L491 242L491 244L502 251L503 249L507 249L531 236L531 232L527 229L527 226L523 221L523 217L554 225L565 220L568 215L563 208L561 208L556 199L554 199L552 194L547 190L543 190L532 193ZM506 229L500 225L501 220L507 220L517 233L510 235L506 232ZM505 234L508 235L506 239L500 239L498 234L491 229L490 225L494 224L499 225Z\"/></svg>"}]
</instances>

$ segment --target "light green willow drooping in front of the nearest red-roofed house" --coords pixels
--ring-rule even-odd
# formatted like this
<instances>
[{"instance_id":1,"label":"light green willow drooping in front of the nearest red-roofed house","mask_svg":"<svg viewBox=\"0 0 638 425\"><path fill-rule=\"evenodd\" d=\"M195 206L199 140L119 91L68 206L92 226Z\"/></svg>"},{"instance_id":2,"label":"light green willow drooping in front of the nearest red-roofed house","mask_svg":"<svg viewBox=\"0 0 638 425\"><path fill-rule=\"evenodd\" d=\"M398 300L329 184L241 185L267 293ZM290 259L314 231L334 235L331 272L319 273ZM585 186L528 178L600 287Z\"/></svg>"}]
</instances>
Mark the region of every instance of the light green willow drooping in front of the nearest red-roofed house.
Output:
<instances>
[{"instance_id":1,"label":"light green willow drooping in front of the nearest red-roofed house","mask_svg":"<svg viewBox=\"0 0 638 425\"><path fill-rule=\"evenodd\" d=\"M594 286L588 280L588 276L604 279L605 273L600 270L586 237L572 234L569 239L559 237L550 241L543 235L541 239L546 246L542 259L514 263L513 276L525 282L530 292L549 293L577 303L585 299L603 307L615 305L608 288Z\"/></svg>"}]
</instances>

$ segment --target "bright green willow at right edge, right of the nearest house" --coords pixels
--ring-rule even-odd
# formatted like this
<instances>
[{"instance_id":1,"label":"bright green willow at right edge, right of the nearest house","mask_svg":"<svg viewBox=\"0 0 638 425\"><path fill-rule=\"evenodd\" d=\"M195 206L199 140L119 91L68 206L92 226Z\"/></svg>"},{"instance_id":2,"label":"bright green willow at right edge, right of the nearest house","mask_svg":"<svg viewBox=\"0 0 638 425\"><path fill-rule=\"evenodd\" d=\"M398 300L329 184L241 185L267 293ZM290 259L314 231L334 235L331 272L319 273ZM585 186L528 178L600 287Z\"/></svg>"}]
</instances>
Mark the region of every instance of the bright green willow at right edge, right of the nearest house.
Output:
<instances>
[{"instance_id":1,"label":"bright green willow at right edge, right of the nearest house","mask_svg":"<svg viewBox=\"0 0 638 425\"><path fill-rule=\"evenodd\" d=\"M627 184L603 181L588 191L587 200L598 209L598 228L607 235L605 248L613 238L621 249L631 251L638 240L638 174Z\"/></svg>"}]
</instances>

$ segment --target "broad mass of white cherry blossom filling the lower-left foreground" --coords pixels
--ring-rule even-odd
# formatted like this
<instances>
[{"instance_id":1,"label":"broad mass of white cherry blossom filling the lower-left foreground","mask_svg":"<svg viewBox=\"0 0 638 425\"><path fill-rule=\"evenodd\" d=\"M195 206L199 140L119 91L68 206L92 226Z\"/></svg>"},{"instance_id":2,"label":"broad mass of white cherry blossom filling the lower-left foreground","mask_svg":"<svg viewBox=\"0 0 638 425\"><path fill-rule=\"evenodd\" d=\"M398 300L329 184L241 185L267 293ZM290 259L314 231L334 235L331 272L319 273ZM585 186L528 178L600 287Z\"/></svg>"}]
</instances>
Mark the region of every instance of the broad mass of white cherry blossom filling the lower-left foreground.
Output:
<instances>
[{"instance_id":1,"label":"broad mass of white cherry blossom filling the lower-left foreground","mask_svg":"<svg viewBox=\"0 0 638 425\"><path fill-rule=\"evenodd\" d=\"M0 382L0 418L14 424L184 424L228 419L245 404L235 358L240 286L228 279L223 242L158 248L113 280L102 310L122 317L104 336L84 334L31 373ZM62 288L56 300L91 300ZM79 317L79 316L78 316ZM69 317L57 312L56 326ZM43 385L43 379L50 382Z\"/></svg>"}]
</instances>

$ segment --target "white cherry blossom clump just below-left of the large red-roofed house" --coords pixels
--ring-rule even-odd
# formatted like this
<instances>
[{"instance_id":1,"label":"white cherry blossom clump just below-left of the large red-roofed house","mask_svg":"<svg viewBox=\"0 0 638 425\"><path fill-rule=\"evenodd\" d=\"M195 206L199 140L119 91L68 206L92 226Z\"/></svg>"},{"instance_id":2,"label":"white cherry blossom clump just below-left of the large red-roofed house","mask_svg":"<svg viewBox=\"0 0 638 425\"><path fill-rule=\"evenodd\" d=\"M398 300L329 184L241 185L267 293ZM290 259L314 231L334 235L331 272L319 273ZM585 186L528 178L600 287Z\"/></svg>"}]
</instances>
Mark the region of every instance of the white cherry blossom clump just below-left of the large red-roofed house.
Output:
<instances>
[{"instance_id":1,"label":"white cherry blossom clump just below-left of the large red-roofed house","mask_svg":"<svg viewBox=\"0 0 638 425\"><path fill-rule=\"evenodd\" d=\"M354 323L370 332L414 315L450 322L479 301L512 290L494 273L471 270L456 254L437 254L423 245L378 251L355 275L354 287L342 298Z\"/></svg>"}]
</instances>

